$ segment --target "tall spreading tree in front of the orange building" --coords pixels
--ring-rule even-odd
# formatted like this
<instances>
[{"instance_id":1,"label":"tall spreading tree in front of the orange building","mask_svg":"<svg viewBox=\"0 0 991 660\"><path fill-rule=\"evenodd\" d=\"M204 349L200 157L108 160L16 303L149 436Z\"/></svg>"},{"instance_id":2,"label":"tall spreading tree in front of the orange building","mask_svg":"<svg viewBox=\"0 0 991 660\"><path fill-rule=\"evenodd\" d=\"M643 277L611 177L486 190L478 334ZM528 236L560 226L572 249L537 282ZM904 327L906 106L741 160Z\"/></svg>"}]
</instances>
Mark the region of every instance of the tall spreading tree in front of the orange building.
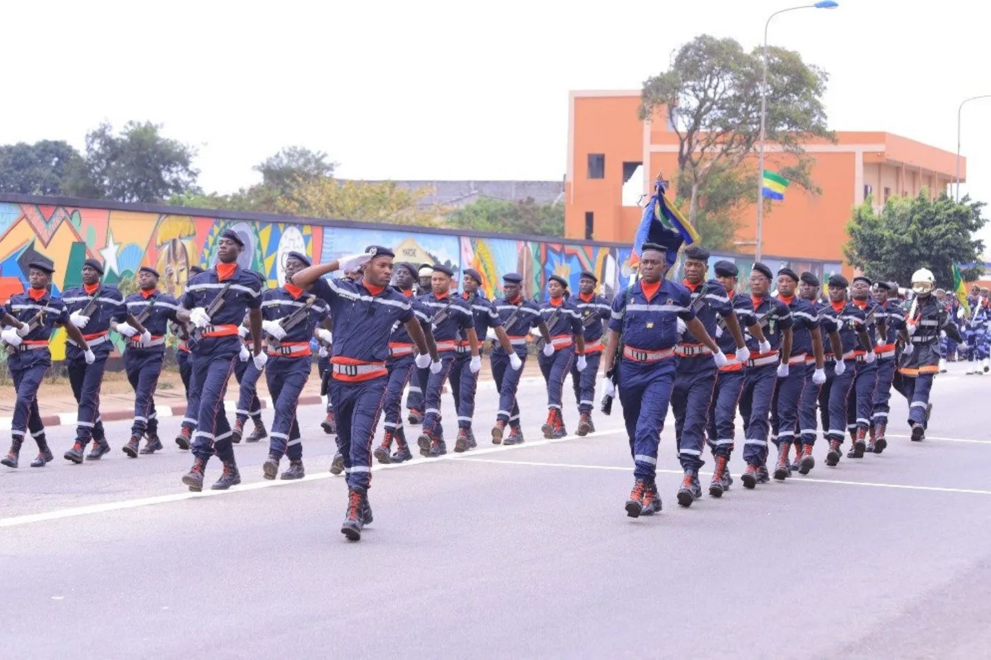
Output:
<instances>
[{"instance_id":1,"label":"tall spreading tree in front of the orange building","mask_svg":"<svg viewBox=\"0 0 991 660\"><path fill-rule=\"evenodd\" d=\"M795 51L771 47L768 55L766 135L782 151L768 154L766 167L818 193L802 144L834 140L822 100L828 76ZM760 139L762 74L760 48L747 52L732 39L703 35L643 83L640 118L664 108L678 137L675 196L687 202L689 220L706 228L700 234L712 247L728 246L719 243L735 234L734 212L756 198L757 172L745 161Z\"/></svg>"}]
</instances>

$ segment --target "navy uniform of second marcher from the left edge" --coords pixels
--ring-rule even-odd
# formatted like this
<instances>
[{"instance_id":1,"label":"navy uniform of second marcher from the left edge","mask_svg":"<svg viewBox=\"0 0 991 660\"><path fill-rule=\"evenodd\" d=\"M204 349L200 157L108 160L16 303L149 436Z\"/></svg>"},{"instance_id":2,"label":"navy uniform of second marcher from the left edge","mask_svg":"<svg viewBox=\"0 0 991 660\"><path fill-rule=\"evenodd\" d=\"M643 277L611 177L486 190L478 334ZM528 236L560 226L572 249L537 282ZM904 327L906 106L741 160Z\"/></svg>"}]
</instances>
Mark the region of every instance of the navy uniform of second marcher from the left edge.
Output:
<instances>
[{"instance_id":1,"label":"navy uniform of second marcher from the left edge","mask_svg":"<svg viewBox=\"0 0 991 660\"><path fill-rule=\"evenodd\" d=\"M62 302L70 317L73 312L81 313L93 299L96 299L96 310L90 316L89 323L79 331L96 360L86 364L83 351L71 339L65 340L68 382L72 387L72 396L79 404L75 440L80 445L80 451L90 439L101 445L106 444L103 423L100 422L100 385L107 358L114 348L109 336L110 322L122 324L127 319L124 296L115 286L101 284L88 291L85 286L78 286L62 292Z\"/></svg>"}]
</instances>

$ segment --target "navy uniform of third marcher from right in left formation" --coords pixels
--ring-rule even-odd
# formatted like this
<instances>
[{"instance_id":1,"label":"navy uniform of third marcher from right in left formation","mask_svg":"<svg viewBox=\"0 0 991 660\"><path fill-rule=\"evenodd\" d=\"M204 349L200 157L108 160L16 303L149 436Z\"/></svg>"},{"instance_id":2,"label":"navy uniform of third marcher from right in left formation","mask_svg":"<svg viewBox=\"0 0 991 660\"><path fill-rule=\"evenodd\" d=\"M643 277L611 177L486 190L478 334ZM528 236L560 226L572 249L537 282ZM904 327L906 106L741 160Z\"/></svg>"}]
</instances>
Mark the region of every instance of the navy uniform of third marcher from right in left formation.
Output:
<instances>
[{"instance_id":1,"label":"navy uniform of third marcher from right in left formation","mask_svg":"<svg viewBox=\"0 0 991 660\"><path fill-rule=\"evenodd\" d=\"M509 337L513 352L522 360L523 366L526 366L526 335L531 329L540 325L540 308L533 301L525 300L520 296L513 302L505 299L497 301L495 312L499 316L502 329ZM516 388L519 386L523 367L521 366L517 370L509 366L509 355L498 342L493 346L491 359L495 391L498 392L498 411L495 413L495 420L508 424L515 434L519 431L519 404L516 403ZM520 437L522 437L521 434Z\"/></svg>"}]
</instances>

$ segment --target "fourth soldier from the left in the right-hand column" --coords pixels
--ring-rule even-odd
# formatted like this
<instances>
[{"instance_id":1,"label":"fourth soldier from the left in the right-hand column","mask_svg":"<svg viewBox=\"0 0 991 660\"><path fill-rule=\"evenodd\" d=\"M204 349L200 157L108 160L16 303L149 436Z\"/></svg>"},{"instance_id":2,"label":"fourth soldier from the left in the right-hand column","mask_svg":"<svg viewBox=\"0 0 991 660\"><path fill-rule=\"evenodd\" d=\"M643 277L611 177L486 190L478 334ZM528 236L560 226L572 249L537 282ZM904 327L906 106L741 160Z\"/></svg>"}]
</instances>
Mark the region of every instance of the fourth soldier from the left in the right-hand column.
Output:
<instances>
[{"instance_id":1,"label":"fourth soldier from the left in the right-hand column","mask_svg":"<svg viewBox=\"0 0 991 660\"><path fill-rule=\"evenodd\" d=\"M767 472L767 435L771 401L778 378L788 376L792 352L792 313L788 306L770 295L771 269L757 261L750 271L750 302L764 331L765 342L753 335L747 339L750 359L746 363L740 416L743 418L743 460L746 471L740 477L744 488L770 481Z\"/></svg>"}]
</instances>

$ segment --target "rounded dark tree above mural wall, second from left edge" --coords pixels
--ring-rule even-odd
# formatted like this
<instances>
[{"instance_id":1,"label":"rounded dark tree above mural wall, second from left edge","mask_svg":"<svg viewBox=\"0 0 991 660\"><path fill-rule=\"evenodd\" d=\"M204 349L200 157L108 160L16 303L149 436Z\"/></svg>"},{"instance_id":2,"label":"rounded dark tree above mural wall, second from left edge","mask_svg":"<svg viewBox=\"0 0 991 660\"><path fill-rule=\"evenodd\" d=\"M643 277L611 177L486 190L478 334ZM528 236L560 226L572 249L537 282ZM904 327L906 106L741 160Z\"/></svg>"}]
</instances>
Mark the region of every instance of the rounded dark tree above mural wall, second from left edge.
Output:
<instances>
[{"instance_id":1,"label":"rounded dark tree above mural wall, second from left edge","mask_svg":"<svg viewBox=\"0 0 991 660\"><path fill-rule=\"evenodd\" d=\"M72 181L73 194L119 202L161 202L197 193L196 149L160 134L162 126L128 122L117 135L103 123L86 135L84 167Z\"/></svg>"}]
</instances>

